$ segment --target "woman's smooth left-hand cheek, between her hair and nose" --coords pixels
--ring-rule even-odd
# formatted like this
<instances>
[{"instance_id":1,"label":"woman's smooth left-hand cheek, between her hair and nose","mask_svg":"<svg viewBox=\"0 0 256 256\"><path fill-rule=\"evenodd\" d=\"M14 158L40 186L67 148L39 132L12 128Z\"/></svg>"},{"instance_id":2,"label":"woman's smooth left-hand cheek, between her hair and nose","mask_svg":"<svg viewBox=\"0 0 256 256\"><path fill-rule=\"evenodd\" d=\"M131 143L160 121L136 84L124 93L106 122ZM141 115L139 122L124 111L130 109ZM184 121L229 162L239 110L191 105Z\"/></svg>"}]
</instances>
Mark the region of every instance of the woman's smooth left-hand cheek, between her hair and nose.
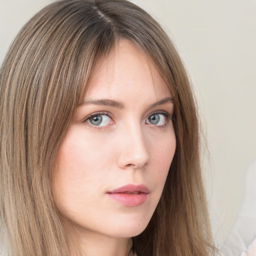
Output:
<instances>
[{"instance_id":1,"label":"woman's smooth left-hand cheek, between her hair and nose","mask_svg":"<svg viewBox=\"0 0 256 256\"><path fill-rule=\"evenodd\" d=\"M72 127L62 141L55 161L52 190L57 205L84 200L104 184L113 168L111 143Z\"/></svg>"}]
</instances>

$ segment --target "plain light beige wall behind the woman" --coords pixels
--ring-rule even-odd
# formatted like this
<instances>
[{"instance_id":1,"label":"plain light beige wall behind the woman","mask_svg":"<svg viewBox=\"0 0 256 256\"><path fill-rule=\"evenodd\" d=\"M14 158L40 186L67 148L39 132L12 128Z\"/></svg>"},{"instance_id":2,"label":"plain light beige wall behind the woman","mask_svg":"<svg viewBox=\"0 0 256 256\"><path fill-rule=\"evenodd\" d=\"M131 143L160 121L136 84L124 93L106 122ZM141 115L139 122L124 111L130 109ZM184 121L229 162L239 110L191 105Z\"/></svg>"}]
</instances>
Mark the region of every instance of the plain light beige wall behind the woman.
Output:
<instances>
[{"instance_id":1,"label":"plain light beige wall behind the woman","mask_svg":"<svg viewBox=\"0 0 256 256\"><path fill-rule=\"evenodd\" d=\"M0 0L0 62L22 24L48 2ZM164 25L194 84L211 155L210 214L221 243L240 206L246 165L256 157L256 1L134 2Z\"/></svg>"}]
</instances>

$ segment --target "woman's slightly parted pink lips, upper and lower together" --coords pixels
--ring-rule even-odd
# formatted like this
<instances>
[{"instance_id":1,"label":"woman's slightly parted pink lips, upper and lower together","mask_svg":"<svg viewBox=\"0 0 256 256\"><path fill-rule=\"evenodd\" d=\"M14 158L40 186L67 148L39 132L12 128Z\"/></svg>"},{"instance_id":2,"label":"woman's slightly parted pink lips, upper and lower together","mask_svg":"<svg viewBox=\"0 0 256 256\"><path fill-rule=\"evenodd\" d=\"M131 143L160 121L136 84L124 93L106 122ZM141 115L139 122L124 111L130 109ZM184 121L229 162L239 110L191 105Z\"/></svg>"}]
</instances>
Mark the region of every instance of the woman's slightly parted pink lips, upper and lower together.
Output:
<instances>
[{"instance_id":1,"label":"woman's slightly parted pink lips, upper and lower together","mask_svg":"<svg viewBox=\"0 0 256 256\"><path fill-rule=\"evenodd\" d=\"M148 193L149 189L142 184L128 184L106 192L112 200L124 206L141 205L147 199Z\"/></svg>"}]
</instances>

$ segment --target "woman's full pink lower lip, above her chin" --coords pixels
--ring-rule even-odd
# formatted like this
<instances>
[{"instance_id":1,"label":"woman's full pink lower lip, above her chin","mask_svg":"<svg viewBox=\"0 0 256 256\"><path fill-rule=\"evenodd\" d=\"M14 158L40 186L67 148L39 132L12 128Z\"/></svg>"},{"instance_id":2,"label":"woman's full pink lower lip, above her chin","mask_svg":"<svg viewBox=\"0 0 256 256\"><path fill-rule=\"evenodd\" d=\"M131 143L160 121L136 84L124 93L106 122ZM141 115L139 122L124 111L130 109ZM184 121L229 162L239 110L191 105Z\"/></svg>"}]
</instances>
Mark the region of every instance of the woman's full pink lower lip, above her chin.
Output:
<instances>
[{"instance_id":1,"label":"woman's full pink lower lip, above her chin","mask_svg":"<svg viewBox=\"0 0 256 256\"><path fill-rule=\"evenodd\" d=\"M147 193L107 193L107 195L114 201L117 201L124 206L138 206L142 204L147 198Z\"/></svg>"}]
</instances>

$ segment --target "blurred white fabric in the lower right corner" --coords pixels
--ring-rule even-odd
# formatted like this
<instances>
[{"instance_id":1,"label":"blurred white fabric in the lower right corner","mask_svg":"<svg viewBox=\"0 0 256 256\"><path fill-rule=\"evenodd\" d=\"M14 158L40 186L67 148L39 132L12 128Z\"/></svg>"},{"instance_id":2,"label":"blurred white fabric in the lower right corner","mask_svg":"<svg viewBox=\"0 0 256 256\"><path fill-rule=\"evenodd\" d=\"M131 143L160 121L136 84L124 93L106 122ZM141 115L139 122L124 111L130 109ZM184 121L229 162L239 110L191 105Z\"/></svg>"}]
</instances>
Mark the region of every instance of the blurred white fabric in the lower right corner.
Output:
<instances>
[{"instance_id":1,"label":"blurred white fabric in the lower right corner","mask_svg":"<svg viewBox=\"0 0 256 256\"><path fill-rule=\"evenodd\" d=\"M246 171L243 203L220 251L223 256L256 256L256 160Z\"/></svg>"}]
</instances>

